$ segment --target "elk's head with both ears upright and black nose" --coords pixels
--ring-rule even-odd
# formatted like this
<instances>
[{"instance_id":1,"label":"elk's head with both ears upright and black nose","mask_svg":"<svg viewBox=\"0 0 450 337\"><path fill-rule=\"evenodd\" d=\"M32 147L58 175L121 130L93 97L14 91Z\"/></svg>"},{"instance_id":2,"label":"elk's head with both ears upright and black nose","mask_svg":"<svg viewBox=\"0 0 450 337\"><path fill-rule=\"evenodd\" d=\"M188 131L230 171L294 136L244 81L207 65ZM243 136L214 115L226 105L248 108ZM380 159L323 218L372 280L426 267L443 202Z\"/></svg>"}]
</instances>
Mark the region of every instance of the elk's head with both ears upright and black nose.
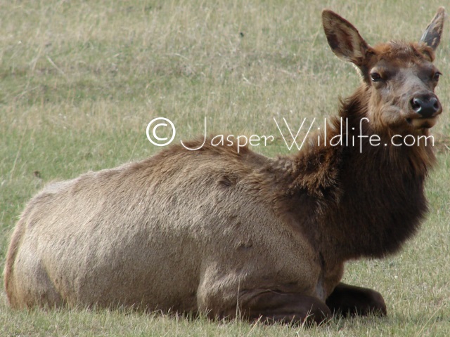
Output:
<instances>
[{"instance_id":1,"label":"elk's head with both ears upright and black nose","mask_svg":"<svg viewBox=\"0 0 450 337\"><path fill-rule=\"evenodd\" d=\"M435 95L441 73L432 62L444 17L441 7L417 43L390 41L372 47L347 20L332 11L322 12L333 53L361 72L367 95L363 114L376 132L426 133L436 124L442 112Z\"/></svg>"}]
</instances>

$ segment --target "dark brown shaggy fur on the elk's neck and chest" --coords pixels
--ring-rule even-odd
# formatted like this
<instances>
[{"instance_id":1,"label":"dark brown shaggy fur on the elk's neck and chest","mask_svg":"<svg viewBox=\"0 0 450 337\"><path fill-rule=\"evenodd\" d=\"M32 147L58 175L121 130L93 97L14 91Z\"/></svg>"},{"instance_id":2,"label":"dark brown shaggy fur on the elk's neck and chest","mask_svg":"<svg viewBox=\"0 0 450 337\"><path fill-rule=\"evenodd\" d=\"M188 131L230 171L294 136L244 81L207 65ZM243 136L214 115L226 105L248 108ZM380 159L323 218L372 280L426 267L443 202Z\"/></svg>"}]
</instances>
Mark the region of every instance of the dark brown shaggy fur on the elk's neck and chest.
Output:
<instances>
[{"instance_id":1,"label":"dark brown shaggy fur on the elk's neck and chest","mask_svg":"<svg viewBox=\"0 0 450 337\"><path fill-rule=\"evenodd\" d=\"M370 93L371 88L361 84L341 102L340 117L348 124L343 130L348 129L349 136L359 135L361 118L368 117ZM331 124L328 141L340 133L340 119ZM363 126L365 135L378 134L371 124ZM355 146L310 143L291 158L291 210L297 223L317 224L302 230L330 262L394 253L416 232L427 211L423 184L435 161L432 146L396 147L390 143L390 132L378 136L379 146L364 138L362 151L356 138ZM302 219L305 203L311 205L314 222Z\"/></svg>"}]
</instances>

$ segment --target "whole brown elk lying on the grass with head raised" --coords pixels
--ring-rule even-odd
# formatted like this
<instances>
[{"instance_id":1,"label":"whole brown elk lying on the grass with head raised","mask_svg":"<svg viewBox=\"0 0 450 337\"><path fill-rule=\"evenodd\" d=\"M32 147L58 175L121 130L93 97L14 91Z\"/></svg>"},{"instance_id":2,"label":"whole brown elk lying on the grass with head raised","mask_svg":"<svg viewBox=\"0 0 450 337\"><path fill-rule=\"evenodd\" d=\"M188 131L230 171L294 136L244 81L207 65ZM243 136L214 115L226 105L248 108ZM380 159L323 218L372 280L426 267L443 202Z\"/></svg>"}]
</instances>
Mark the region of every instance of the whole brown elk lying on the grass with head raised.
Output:
<instances>
[{"instance_id":1,"label":"whole brown elk lying on the grass with head raised","mask_svg":"<svg viewBox=\"0 0 450 337\"><path fill-rule=\"evenodd\" d=\"M392 138L428 136L442 112L432 62L444 16L439 8L419 42L372 47L322 12L333 53L362 79L323 137L344 123L347 136L362 133L361 147L313 137L297 154L267 158L173 145L45 187L8 248L11 307L123 305L295 323L386 315L380 293L340 280L347 260L398 251L428 210L432 146Z\"/></svg>"}]
</instances>

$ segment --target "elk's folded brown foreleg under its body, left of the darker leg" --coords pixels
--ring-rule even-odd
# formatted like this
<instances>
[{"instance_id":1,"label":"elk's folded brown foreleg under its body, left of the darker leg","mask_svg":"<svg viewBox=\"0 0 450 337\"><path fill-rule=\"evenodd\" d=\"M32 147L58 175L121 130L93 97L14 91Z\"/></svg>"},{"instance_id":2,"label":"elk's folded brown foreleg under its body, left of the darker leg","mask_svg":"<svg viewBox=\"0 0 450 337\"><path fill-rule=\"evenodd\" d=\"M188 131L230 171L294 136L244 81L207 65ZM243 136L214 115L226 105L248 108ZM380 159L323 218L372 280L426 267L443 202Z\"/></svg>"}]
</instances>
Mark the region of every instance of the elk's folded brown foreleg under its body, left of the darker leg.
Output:
<instances>
[{"instance_id":1,"label":"elk's folded brown foreleg under its body, left of the darker leg","mask_svg":"<svg viewBox=\"0 0 450 337\"><path fill-rule=\"evenodd\" d=\"M300 293L251 291L240 296L239 303L241 315L250 320L320 324L331 316L330 309L319 298Z\"/></svg>"}]
</instances>

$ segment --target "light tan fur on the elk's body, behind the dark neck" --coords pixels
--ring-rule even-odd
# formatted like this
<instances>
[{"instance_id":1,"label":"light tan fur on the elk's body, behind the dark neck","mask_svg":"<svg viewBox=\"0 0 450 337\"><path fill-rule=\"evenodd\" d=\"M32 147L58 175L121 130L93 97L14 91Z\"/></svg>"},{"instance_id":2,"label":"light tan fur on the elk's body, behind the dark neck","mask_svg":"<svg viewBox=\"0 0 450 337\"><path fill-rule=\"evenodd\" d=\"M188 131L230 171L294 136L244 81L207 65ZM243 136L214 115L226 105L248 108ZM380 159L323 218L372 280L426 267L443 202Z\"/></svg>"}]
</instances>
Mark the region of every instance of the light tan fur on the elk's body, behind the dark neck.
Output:
<instances>
[{"instance_id":1,"label":"light tan fur on the elk's body, behind the dark neck","mask_svg":"<svg viewBox=\"0 0 450 337\"><path fill-rule=\"evenodd\" d=\"M334 284L266 180L280 162L225 147L186 154L172 147L34 197L8 252L11 305L232 312L255 285L325 300Z\"/></svg>"}]
</instances>

